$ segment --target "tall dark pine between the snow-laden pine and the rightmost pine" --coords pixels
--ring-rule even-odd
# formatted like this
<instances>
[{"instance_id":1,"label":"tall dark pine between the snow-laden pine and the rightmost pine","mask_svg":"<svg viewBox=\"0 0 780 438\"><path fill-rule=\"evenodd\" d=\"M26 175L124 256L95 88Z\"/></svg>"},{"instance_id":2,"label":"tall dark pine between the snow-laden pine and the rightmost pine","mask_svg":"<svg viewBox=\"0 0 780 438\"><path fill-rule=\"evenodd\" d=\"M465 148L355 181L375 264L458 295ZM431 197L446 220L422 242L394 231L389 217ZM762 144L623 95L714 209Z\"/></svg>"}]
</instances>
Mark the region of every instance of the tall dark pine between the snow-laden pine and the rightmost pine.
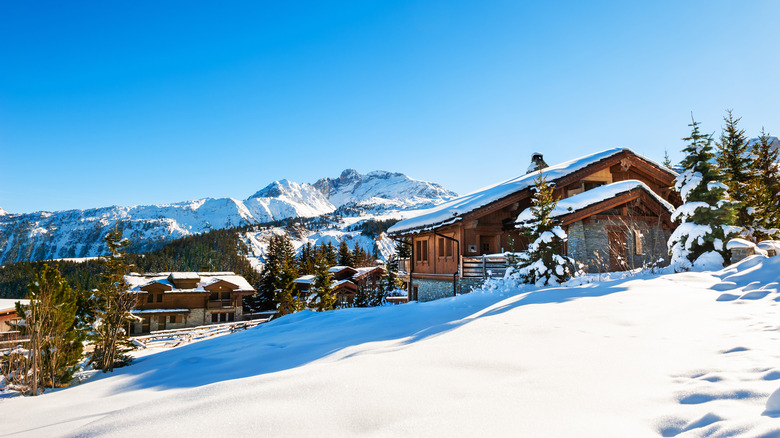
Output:
<instances>
[{"instance_id":1,"label":"tall dark pine between the snow-laden pine and the rightmost pine","mask_svg":"<svg viewBox=\"0 0 780 438\"><path fill-rule=\"evenodd\" d=\"M726 111L723 121L726 123L716 143L718 154L716 160L720 168L722 181L728 186L731 199L739 202L735 225L747 227L750 217L744 204L750 180L750 157L748 156L748 141L745 131L737 124L741 119L735 119L731 110ZM735 205L736 206L736 205Z\"/></svg>"}]
</instances>

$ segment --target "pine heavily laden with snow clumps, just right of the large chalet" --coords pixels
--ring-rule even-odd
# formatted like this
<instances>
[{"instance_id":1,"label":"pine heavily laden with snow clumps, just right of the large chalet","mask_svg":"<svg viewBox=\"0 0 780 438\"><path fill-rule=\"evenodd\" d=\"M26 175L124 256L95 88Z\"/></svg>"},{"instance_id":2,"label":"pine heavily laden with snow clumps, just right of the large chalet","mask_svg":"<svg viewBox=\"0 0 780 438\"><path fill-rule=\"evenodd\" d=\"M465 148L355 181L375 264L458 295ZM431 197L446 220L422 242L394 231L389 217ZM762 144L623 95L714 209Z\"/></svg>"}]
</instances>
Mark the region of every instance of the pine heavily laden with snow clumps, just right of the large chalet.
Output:
<instances>
[{"instance_id":1,"label":"pine heavily laden with snow clumps, just right of the large chalet","mask_svg":"<svg viewBox=\"0 0 780 438\"><path fill-rule=\"evenodd\" d=\"M691 135L680 163L682 173L677 176L675 189L682 196L683 205L672 215L680 225L674 230L667 246L672 266L677 271L718 269L730 259L726 243L742 230L733 225L735 205L729 199L727 186L714 163L712 136L702 134L699 122L693 120Z\"/></svg>"}]
</instances>

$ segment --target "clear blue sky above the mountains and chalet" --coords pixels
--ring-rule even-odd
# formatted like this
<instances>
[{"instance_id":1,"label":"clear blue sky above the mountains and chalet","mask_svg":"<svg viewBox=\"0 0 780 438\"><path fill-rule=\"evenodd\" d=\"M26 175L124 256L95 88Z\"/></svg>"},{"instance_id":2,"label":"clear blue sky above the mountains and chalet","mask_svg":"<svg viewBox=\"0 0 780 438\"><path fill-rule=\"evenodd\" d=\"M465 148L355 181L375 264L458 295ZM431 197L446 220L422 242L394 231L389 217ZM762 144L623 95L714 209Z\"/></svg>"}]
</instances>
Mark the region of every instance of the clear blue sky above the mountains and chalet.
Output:
<instances>
[{"instance_id":1,"label":"clear blue sky above the mountains and chalet","mask_svg":"<svg viewBox=\"0 0 780 438\"><path fill-rule=\"evenodd\" d=\"M382 169L459 193L690 113L780 133L780 2L4 2L0 207L246 198Z\"/></svg>"}]
</instances>

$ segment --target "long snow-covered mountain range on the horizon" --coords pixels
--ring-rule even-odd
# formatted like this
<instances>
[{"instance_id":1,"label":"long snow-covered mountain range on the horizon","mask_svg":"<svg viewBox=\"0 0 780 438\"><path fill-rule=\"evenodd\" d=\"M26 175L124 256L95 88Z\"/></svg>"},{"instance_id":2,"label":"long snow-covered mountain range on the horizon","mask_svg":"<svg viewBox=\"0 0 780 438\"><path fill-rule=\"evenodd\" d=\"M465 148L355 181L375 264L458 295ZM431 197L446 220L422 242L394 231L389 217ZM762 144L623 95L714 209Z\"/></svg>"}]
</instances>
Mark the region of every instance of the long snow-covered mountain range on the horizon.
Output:
<instances>
[{"instance_id":1,"label":"long snow-covered mountain range on the horizon","mask_svg":"<svg viewBox=\"0 0 780 438\"><path fill-rule=\"evenodd\" d=\"M211 229L316 217L346 204L368 215L401 217L402 212L428 208L455 196L438 184L401 173L361 175L348 169L339 178L322 178L315 184L275 181L245 200L206 198L53 213L10 214L0 209L0 265L101 255L105 252L103 237L118 222L133 249L144 251Z\"/></svg>"}]
</instances>

